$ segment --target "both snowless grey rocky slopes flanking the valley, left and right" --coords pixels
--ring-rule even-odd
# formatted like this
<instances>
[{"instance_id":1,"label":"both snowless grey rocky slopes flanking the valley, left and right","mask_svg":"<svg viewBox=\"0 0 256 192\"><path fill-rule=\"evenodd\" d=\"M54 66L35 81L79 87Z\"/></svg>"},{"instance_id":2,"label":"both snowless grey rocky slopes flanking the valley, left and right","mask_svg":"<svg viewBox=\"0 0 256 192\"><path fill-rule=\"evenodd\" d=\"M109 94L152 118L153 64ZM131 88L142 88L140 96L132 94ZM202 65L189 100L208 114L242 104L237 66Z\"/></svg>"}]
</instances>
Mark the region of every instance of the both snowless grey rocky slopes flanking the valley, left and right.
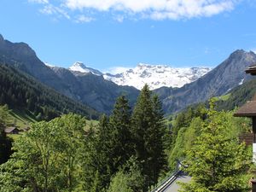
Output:
<instances>
[{"instance_id":1,"label":"both snowless grey rocky slopes flanking the valley, left and right","mask_svg":"<svg viewBox=\"0 0 256 192\"><path fill-rule=\"evenodd\" d=\"M65 96L83 102L102 113L111 113L113 104L120 95L127 96L133 106L139 94L136 88L119 86L104 79L102 75L48 67L27 44L0 40L0 62L17 67ZM256 55L252 51L238 49L218 67L194 82L184 84L180 88L161 87L154 90L154 93L160 96L166 114L177 113L190 104L204 102L211 96L224 95L237 85L247 82L250 78L243 71L254 63Z\"/></svg>"}]
</instances>

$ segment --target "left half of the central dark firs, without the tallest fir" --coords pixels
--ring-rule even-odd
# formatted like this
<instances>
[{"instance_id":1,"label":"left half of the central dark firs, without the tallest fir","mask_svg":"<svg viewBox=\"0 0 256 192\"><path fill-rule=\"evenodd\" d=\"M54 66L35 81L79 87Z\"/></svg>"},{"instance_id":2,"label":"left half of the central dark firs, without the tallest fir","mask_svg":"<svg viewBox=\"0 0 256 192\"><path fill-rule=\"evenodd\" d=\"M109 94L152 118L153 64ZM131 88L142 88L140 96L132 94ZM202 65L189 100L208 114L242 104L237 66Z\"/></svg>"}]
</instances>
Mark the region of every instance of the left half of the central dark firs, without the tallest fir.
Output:
<instances>
[{"instance_id":1,"label":"left half of the central dark firs, without the tallest fir","mask_svg":"<svg viewBox=\"0 0 256 192\"><path fill-rule=\"evenodd\" d=\"M85 143L84 172L85 186L90 191L102 191L108 188L110 178L119 171L131 157L131 108L125 96L115 103L113 114L108 119L102 116L96 132L91 131ZM97 183L90 173L95 174ZM96 175L97 174L97 175ZM93 187L92 187L93 186Z\"/></svg>"}]
</instances>

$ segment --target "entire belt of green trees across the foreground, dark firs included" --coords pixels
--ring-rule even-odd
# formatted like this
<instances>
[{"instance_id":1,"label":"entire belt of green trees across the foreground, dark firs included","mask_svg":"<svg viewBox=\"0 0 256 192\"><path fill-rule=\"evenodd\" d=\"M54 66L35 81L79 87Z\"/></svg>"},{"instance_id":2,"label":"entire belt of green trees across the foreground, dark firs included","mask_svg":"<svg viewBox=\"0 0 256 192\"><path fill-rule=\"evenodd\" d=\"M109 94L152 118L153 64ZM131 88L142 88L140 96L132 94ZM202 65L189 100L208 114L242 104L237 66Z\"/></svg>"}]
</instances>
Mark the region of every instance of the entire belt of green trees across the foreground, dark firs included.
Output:
<instances>
[{"instance_id":1,"label":"entire belt of green trees across the foreground, dark firs included","mask_svg":"<svg viewBox=\"0 0 256 192\"><path fill-rule=\"evenodd\" d=\"M181 191L249 191L252 147L238 138L251 131L251 120L220 110L220 102L212 99L166 119L146 84L134 108L119 96L113 113L97 125L86 125L81 114L62 114L32 124L14 141L3 131L9 119L3 106L1 191L146 192L177 162L192 177L180 183Z\"/></svg>"}]
</instances>

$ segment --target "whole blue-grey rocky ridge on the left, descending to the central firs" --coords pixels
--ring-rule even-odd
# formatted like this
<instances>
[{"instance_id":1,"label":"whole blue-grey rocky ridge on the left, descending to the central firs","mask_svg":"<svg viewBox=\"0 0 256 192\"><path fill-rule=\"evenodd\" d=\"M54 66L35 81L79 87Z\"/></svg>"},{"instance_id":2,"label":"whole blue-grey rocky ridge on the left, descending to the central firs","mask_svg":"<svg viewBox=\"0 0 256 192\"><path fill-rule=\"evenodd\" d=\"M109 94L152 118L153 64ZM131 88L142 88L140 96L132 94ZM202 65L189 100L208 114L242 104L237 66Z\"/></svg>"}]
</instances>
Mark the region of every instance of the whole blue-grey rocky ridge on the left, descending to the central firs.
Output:
<instances>
[{"instance_id":1,"label":"whole blue-grey rocky ridge on the left, descending to the central firs","mask_svg":"<svg viewBox=\"0 0 256 192\"><path fill-rule=\"evenodd\" d=\"M139 92L135 88L113 84L102 76L46 66L27 44L11 43L1 35L0 63L17 67L65 96L103 113L111 112L118 96L125 94L134 103Z\"/></svg>"}]
</instances>

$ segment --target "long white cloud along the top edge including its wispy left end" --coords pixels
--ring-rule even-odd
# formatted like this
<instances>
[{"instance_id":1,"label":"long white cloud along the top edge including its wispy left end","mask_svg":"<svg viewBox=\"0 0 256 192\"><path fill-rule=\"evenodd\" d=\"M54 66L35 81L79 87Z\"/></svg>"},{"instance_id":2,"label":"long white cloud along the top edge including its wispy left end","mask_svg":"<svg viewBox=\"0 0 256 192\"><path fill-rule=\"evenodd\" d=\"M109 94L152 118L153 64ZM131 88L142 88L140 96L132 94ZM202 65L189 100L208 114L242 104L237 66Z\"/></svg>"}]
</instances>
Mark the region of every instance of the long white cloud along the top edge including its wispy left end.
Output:
<instances>
[{"instance_id":1,"label":"long white cloud along the top edge including its wispy left end","mask_svg":"<svg viewBox=\"0 0 256 192\"><path fill-rule=\"evenodd\" d=\"M180 20L209 17L234 9L236 3L241 0L61 0L60 3L55 0L28 1L51 6L55 4L55 9L65 9L69 14L75 15L79 12L84 15L85 22L91 18L85 13L91 12L109 12L114 15L114 20L122 22L126 18ZM49 8L44 9L45 13L50 12ZM55 12L62 14L59 10ZM83 20L83 17L81 19Z\"/></svg>"}]
</instances>

